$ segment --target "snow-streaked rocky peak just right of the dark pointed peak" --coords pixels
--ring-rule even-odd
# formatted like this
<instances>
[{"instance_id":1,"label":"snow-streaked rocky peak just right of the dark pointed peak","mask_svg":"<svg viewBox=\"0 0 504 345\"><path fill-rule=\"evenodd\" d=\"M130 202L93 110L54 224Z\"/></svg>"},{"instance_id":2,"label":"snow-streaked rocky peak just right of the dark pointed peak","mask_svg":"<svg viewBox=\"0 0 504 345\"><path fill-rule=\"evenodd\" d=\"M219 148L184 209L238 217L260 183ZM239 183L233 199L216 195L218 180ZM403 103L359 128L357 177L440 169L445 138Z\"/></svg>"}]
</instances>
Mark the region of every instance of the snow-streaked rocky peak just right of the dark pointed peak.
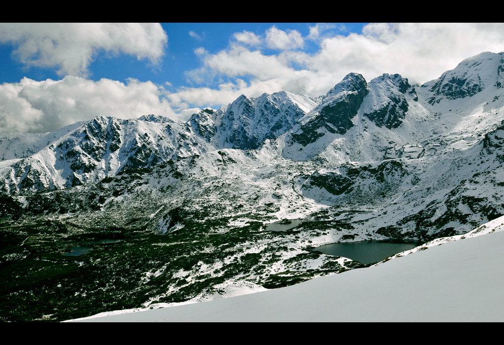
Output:
<instances>
[{"instance_id":1,"label":"snow-streaked rocky peak just right of the dark pointed peak","mask_svg":"<svg viewBox=\"0 0 504 345\"><path fill-rule=\"evenodd\" d=\"M405 94L409 88L408 79L398 74L374 78L369 82L369 94L363 104L364 116L376 126L398 128L408 111Z\"/></svg>"}]
</instances>

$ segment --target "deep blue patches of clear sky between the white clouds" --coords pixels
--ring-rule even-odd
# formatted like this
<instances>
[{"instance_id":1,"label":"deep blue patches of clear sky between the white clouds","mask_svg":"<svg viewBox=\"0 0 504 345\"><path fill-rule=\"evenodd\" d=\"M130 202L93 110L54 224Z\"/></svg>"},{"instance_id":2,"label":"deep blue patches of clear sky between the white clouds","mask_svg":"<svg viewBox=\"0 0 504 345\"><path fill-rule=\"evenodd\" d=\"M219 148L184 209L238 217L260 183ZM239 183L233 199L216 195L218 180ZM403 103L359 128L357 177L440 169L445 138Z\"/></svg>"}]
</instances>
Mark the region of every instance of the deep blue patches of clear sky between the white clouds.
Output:
<instances>
[{"instance_id":1,"label":"deep blue patches of clear sky between the white clouds","mask_svg":"<svg viewBox=\"0 0 504 345\"><path fill-rule=\"evenodd\" d=\"M103 49L96 52L93 63L89 66L88 78L94 81L108 78L127 82L129 78L139 81L152 81L157 84L169 82L173 87L191 84L187 80L186 71L197 69L201 60L194 50L204 47L209 53L217 53L225 49L233 39L233 34L243 30L262 35L272 26L279 30L296 30L302 36L309 35L310 27L317 23L161 23L168 36L165 45L165 55L156 66L149 65L131 54L117 54L111 56ZM361 33L365 23L333 23L334 27L328 28L326 35L348 35L351 32ZM194 33L191 35L190 33ZM61 79L54 67L29 67L19 62L12 56L16 44L0 44L0 82L15 83L23 77L34 80ZM303 51L315 53L318 45L307 41ZM266 47L266 54L274 53L274 49Z\"/></svg>"}]
</instances>

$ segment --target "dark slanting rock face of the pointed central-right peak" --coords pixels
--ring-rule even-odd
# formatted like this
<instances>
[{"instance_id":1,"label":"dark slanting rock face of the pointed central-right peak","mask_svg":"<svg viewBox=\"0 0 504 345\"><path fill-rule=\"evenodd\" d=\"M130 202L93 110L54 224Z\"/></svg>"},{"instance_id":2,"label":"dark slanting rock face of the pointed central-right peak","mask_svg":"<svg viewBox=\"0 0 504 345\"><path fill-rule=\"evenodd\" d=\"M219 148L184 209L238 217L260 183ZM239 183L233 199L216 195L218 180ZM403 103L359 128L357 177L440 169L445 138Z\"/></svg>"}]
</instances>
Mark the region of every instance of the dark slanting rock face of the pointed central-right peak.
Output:
<instances>
[{"instance_id":1,"label":"dark slanting rock face of the pointed central-right peak","mask_svg":"<svg viewBox=\"0 0 504 345\"><path fill-rule=\"evenodd\" d=\"M368 92L364 77L348 74L326 94L322 104L301 119L299 129L292 133L293 141L306 146L327 132L345 134L353 126L352 119Z\"/></svg>"}]
</instances>

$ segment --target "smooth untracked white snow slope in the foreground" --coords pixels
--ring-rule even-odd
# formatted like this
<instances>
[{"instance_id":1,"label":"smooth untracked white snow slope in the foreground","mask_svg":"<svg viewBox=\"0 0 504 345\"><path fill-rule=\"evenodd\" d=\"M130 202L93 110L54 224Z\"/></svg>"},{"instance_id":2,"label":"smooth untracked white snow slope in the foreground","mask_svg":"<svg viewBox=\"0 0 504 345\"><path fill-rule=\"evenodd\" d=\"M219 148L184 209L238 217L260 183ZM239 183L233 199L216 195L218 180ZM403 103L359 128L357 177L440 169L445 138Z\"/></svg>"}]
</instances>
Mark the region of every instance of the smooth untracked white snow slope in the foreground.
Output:
<instances>
[{"instance_id":1,"label":"smooth untracked white snow slope in the foreground","mask_svg":"<svg viewBox=\"0 0 504 345\"><path fill-rule=\"evenodd\" d=\"M475 229L483 236L282 289L80 321L502 322L503 224L500 217Z\"/></svg>"}]
</instances>

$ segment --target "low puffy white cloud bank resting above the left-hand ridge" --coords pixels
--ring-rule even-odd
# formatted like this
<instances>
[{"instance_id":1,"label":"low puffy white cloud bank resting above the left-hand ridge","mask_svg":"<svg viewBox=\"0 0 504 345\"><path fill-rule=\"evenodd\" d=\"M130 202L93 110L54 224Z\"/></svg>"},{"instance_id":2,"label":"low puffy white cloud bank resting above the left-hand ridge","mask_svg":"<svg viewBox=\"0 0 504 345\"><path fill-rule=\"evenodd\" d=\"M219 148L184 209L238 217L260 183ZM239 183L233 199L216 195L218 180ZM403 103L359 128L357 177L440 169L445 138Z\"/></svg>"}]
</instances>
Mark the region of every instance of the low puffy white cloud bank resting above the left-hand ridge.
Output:
<instances>
[{"instance_id":1,"label":"low puffy white cloud bank resting above the left-hand ridge","mask_svg":"<svg viewBox=\"0 0 504 345\"><path fill-rule=\"evenodd\" d=\"M162 87L134 79L123 84L74 76L58 81L23 78L0 85L0 134L50 132L99 115L133 119L154 113L177 119L164 94Z\"/></svg>"}]
</instances>

